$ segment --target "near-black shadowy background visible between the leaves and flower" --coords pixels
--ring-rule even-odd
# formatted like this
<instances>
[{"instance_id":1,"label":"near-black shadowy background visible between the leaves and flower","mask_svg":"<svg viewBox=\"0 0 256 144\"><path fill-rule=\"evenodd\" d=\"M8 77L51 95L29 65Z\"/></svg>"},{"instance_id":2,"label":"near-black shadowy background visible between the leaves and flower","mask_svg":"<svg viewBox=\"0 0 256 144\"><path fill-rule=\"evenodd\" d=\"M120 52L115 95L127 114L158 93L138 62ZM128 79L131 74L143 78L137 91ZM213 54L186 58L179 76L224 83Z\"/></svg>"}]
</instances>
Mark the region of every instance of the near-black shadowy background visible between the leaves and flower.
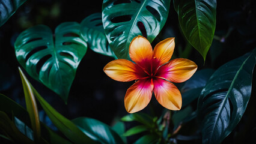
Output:
<instances>
[{"instance_id":1,"label":"near-black shadowy background visible between the leaves and flower","mask_svg":"<svg viewBox=\"0 0 256 144\"><path fill-rule=\"evenodd\" d=\"M25 107L22 83L19 77L14 41L25 29L43 24L54 31L62 22L81 22L85 17L102 11L102 1L26 1L12 17L0 28L0 93L7 95ZM215 39L204 64L200 54L192 49L187 58L201 68L218 68L225 62L250 52L256 46L256 5L255 1L217 1L217 23ZM171 4L168 20L160 34L153 41L154 47L159 41L175 37L174 57L181 55L186 40L180 31L177 13ZM179 50L178 50L179 49ZM41 83L26 75L37 91L62 115L69 119L87 116L112 125L121 116L128 113L124 109L124 95L133 82L116 82L103 72L103 67L113 59L87 50L79 64L75 80L70 89L67 105L58 95ZM25 70L23 70L25 72ZM254 89L254 88L253 88ZM38 109L41 111L40 104ZM159 116L163 107L152 97L150 104L142 112ZM247 110L246 110L247 111ZM41 121L52 125L43 111ZM255 121L254 121L255 122ZM126 124L129 128L133 124ZM243 126L240 126L243 127ZM247 137L248 142L255 134ZM53 129L55 129L52 126ZM236 128L237 130L237 128ZM234 133L225 143L233 142ZM129 138L133 142L137 138ZM246 141L245 141L246 142ZM255 141L254 141L255 142Z\"/></svg>"}]
</instances>

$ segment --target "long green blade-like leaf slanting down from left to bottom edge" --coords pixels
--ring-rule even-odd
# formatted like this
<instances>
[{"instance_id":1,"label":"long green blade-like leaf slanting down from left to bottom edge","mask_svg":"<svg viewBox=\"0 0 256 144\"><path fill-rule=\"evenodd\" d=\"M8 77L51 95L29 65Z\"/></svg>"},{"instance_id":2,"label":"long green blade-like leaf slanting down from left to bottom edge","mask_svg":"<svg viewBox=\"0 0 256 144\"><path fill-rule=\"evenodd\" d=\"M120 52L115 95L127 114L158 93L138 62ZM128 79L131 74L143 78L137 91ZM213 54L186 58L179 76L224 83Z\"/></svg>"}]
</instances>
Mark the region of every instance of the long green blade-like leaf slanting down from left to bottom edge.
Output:
<instances>
[{"instance_id":1,"label":"long green blade-like leaf slanting down from left to bottom edge","mask_svg":"<svg viewBox=\"0 0 256 144\"><path fill-rule=\"evenodd\" d=\"M53 107L50 106L50 104L47 103L47 101L45 101L40 94L38 94L38 92L28 82L28 79L26 79L24 75L21 75L21 77L23 77L22 79L26 80L26 83L23 83L23 84L25 84L26 86L32 89L32 92L34 93L35 97L43 107L47 116L49 116L50 121L52 121L52 123L58 128L59 131L61 131L73 143L95 143L88 136L82 133L82 131L79 130L79 128L76 127L76 125L72 121L69 121L69 119L65 118L60 113L58 113L55 109L53 109Z\"/></svg>"}]
</instances>

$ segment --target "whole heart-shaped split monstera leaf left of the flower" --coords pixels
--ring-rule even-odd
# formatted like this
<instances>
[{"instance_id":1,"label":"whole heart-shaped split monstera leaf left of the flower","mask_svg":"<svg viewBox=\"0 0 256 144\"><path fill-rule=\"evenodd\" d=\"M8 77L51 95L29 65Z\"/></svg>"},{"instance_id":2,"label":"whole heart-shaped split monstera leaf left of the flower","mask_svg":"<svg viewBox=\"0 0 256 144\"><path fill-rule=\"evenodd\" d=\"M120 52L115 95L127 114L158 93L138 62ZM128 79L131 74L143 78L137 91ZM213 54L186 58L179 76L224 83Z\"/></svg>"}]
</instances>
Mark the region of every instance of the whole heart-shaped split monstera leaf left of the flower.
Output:
<instances>
[{"instance_id":1,"label":"whole heart-shaped split monstera leaf left of the flower","mask_svg":"<svg viewBox=\"0 0 256 144\"><path fill-rule=\"evenodd\" d=\"M47 26L38 25L23 31L14 44L20 65L64 101L87 51L79 34L80 25L76 22L62 23L55 34Z\"/></svg>"}]
</instances>

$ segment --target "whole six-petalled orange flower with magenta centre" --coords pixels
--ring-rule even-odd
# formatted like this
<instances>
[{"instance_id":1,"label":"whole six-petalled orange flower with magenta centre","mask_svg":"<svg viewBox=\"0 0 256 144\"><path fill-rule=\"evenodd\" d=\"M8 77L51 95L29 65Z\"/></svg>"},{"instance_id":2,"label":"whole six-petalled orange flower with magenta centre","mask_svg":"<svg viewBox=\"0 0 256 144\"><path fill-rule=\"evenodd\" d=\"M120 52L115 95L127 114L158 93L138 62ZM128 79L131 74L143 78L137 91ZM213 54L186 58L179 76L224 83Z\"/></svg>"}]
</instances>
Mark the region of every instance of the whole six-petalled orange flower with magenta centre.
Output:
<instances>
[{"instance_id":1,"label":"whole six-petalled orange flower with magenta centre","mask_svg":"<svg viewBox=\"0 0 256 144\"><path fill-rule=\"evenodd\" d=\"M195 62L189 59L171 59L174 38L160 41L152 50L150 42L138 36L133 38L129 55L133 62L116 59L103 70L114 80L129 82L136 80L126 91L124 106L127 112L135 113L150 102L152 92L156 100L166 109L180 110L182 99L178 88L171 82L180 83L189 79L197 70Z\"/></svg>"}]
</instances>

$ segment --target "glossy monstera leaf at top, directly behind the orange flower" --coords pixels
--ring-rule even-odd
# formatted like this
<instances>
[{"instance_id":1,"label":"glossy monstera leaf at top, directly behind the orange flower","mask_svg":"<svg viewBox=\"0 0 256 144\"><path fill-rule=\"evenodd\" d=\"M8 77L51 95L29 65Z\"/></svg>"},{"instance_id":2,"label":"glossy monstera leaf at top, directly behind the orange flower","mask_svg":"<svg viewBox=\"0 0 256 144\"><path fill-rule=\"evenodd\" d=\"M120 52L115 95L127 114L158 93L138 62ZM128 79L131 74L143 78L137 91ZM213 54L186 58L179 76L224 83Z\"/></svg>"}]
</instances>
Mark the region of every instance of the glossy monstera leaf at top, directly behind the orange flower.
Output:
<instances>
[{"instance_id":1,"label":"glossy monstera leaf at top, directly behind the orange flower","mask_svg":"<svg viewBox=\"0 0 256 144\"><path fill-rule=\"evenodd\" d=\"M130 59L129 45L138 35L150 43L165 25L170 0L103 1L102 21L117 58Z\"/></svg>"}]
</instances>

